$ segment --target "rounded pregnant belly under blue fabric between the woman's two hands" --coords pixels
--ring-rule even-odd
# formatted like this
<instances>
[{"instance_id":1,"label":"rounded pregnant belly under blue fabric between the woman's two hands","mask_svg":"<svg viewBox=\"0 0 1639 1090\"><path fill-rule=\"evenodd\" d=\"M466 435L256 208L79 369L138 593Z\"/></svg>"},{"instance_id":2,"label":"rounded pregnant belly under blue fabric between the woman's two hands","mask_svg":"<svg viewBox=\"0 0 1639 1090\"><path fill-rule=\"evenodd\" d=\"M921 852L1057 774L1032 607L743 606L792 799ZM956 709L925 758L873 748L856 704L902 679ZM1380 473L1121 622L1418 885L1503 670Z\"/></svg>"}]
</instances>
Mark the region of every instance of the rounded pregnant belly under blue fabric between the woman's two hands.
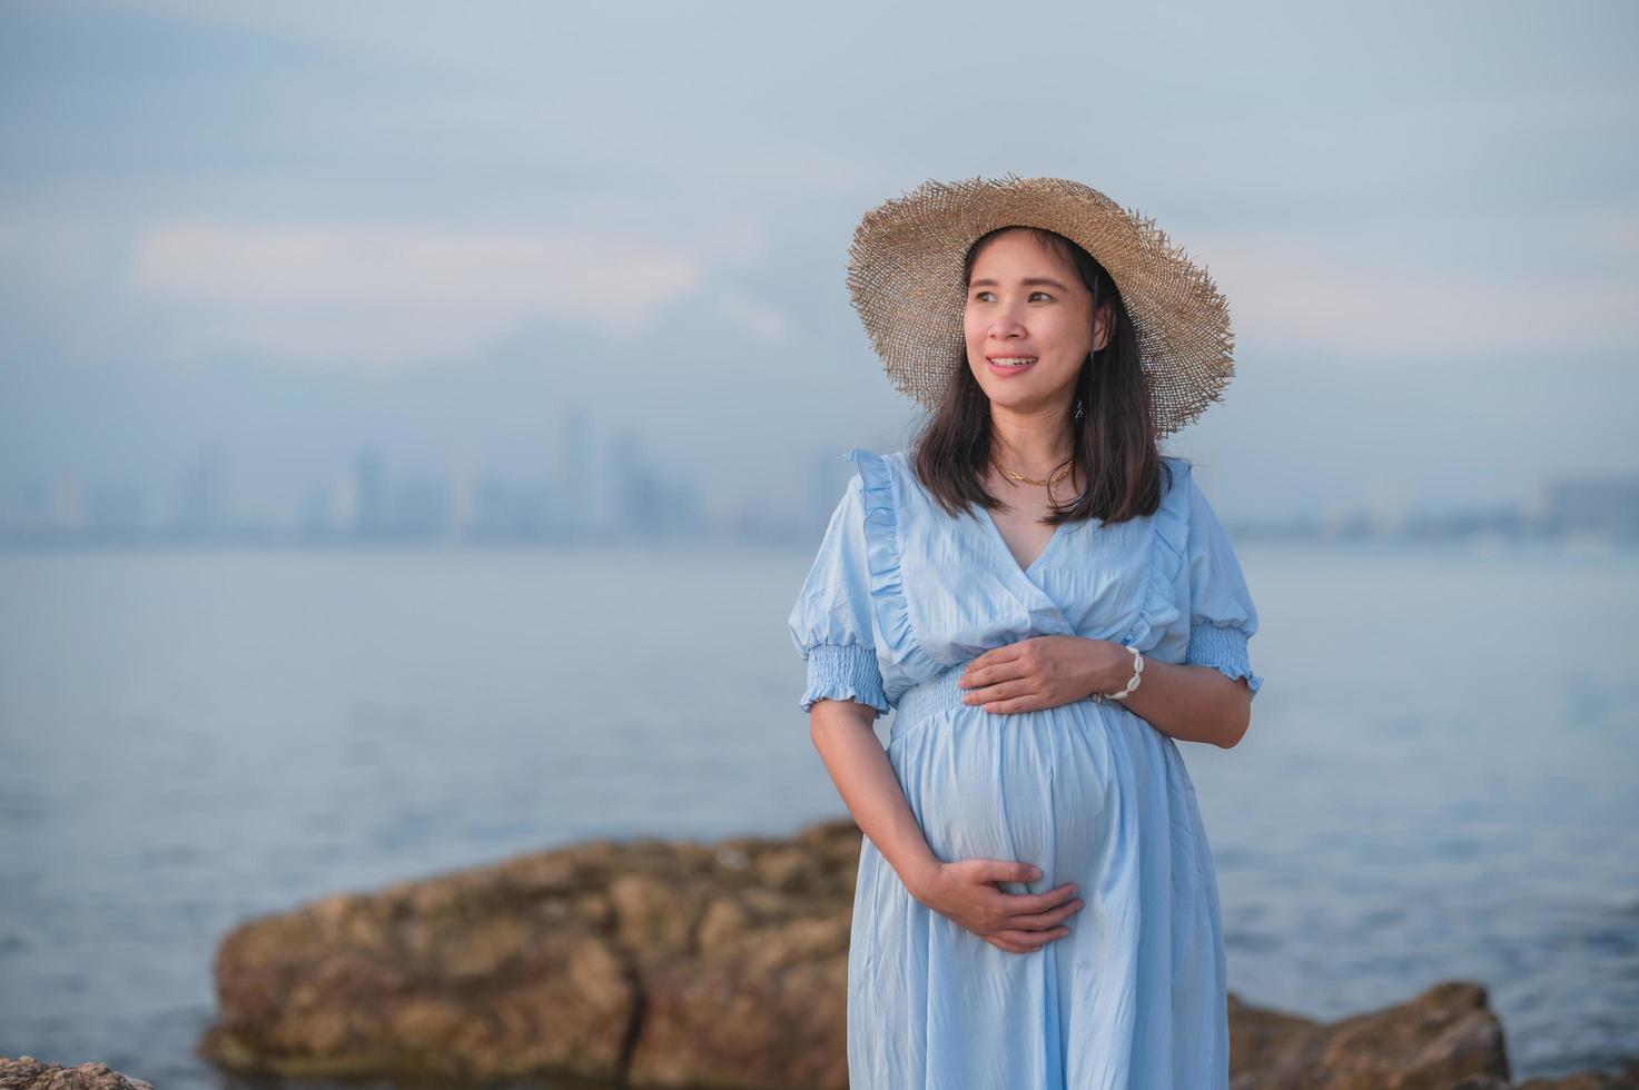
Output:
<instances>
[{"instance_id":1,"label":"rounded pregnant belly under blue fabric between the woman's two hands","mask_svg":"<svg viewBox=\"0 0 1639 1090\"><path fill-rule=\"evenodd\" d=\"M1010 893L1092 885L1116 815L1111 744L1121 728L1106 716L1129 713L1083 700L992 715L959 697L954 708L918 708L928 693L918 697L900 703L898 718L918 715L895 723L888 759L933 852L1041 867L1036 882L1003 883Z\"/></svg>"}]
</instances>

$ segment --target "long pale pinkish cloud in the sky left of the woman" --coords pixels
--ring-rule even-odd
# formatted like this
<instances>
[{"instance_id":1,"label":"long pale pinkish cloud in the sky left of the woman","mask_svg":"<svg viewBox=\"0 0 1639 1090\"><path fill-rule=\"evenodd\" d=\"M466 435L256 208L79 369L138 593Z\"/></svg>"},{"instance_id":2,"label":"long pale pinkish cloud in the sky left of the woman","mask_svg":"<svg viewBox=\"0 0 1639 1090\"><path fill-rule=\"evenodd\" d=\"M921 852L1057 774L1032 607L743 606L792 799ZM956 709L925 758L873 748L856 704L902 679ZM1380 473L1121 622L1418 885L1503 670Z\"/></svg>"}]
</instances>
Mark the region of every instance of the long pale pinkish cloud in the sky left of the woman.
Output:
<instances>
[{"instance_id":1,"label":"long pale pinkish cloud in the sky left of the woman","mask_svg":"<svg viewBox=\"0 0 1639 1090\"><path fill-rule=\"evenodd\" d=\"M690 251L588 231L170 223L138 236L128 284L184 359L384 366L459 356L541 315L634 336L703 275Z\"/></svg>"}]
</instances>

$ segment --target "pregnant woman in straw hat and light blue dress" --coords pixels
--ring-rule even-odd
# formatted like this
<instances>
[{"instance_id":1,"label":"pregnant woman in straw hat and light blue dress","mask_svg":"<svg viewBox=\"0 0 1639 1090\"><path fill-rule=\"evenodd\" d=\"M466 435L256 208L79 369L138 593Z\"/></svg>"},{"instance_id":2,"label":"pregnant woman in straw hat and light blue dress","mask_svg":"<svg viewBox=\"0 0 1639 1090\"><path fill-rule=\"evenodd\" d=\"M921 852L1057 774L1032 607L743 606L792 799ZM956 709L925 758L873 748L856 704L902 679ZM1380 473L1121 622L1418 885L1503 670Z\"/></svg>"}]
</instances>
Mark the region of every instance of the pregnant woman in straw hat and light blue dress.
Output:
<instances>
[{"instance_id":1,"label":"pregnant woman in straw hat and light blue dress","mask_svg":"<svg viewBox=\"0 0 1639 1090\"><path fill-rule=\"evenodd\" d=\"M1013 175L867 213L849 287L929 410L908 454L849 452L790 615L865 833L851 1087L1224 1088L1216 875L1177 743L1246 734L1257 611L1159 451L1233 375L1224 298L1103 193Z\"/></svg>"}]
</instances>

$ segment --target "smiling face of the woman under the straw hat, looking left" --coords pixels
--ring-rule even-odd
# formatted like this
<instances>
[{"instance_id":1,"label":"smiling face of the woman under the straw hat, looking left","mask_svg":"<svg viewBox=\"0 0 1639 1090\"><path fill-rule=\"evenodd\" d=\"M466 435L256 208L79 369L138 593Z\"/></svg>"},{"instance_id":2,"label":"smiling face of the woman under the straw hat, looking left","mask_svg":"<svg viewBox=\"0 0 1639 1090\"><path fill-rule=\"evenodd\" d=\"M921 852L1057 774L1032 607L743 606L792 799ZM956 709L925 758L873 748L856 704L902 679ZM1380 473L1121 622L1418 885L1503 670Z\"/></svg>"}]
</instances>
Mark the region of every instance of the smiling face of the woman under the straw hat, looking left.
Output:
<instances>
[{"instance_id":1,"label":"smiling face of the woman under the straw hat, looking left","mask_svg":"<svg viewBox=\"0 0 1639 1090\"><path fill-rule=\"evenodd\" d=\"M1003 231L974 262L962 328L967 366L992 405L1057 410L1093 349L1093 297L1034 234Z\"/></svg>"}]
</instances>

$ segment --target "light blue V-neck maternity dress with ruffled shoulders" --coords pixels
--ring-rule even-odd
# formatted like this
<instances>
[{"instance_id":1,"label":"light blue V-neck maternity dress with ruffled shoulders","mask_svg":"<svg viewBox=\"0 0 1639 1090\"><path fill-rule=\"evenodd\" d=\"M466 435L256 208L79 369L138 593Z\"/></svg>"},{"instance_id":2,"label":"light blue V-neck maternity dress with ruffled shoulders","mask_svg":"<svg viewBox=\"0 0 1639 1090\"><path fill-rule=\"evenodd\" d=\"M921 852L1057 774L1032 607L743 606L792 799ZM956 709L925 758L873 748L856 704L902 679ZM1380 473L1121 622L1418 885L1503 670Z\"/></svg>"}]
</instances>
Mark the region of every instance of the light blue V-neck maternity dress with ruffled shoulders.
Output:
<instances>
[{"instance_id":1,"label":"light blue V-neck maternity dress with ruffled shoulders","mask_svg":"<svg viewBox=\"0 0 1639 1090\"><path fill-rule=\"evenodd\" d=\"M851 1090L1213 1090L1229 1085L1218 883L1177 743L1121 702L988 713L978 654L1029 636L1133 644L1262 677L1257 611L1190 467L1155 515L1057 528L1021 569L983 508L949 516L905 452L856 447L790 615L815 700L895 711L887 754L933 852L1080 887L1070 934L1029 954L918 903L870 839L847 964ZM1165 484L1165 480L1164 480Z\"/></svg>"}]
</instances>

